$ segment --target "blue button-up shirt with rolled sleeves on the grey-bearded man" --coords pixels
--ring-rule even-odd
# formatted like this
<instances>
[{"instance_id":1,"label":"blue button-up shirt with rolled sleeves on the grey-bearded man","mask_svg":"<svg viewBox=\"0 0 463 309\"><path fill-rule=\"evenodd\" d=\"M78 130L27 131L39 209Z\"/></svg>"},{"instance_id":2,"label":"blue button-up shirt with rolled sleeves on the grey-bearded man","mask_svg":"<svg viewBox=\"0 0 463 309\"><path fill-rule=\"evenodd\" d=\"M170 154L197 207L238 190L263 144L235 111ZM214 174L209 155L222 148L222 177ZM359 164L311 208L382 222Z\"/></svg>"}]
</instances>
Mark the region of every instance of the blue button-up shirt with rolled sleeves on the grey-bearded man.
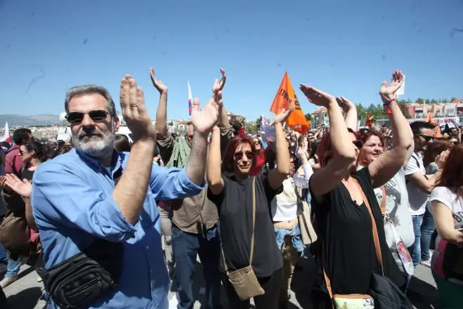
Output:
<instances>
[{"instance_id":1,"label":"blue button-up shirt with rolled sleeves on the grey-bearded man","mask_svg":"<svg viewBox=\"0 0 463 309\"><path fill-rule=\"evenodd\" d=\"M50 268L84 250L96 237L124 242L117 289L90 308L164 309L168 307L170 280L155 199L197 195L202 187L191 182L185 169L153 164L140 220L131 225L112 198L114 177L123 172L128 159L129 153L115 152L113 164L107 168L74 149L37 168L32 209L44 262Z\"/></svg>"}]
</instances>

